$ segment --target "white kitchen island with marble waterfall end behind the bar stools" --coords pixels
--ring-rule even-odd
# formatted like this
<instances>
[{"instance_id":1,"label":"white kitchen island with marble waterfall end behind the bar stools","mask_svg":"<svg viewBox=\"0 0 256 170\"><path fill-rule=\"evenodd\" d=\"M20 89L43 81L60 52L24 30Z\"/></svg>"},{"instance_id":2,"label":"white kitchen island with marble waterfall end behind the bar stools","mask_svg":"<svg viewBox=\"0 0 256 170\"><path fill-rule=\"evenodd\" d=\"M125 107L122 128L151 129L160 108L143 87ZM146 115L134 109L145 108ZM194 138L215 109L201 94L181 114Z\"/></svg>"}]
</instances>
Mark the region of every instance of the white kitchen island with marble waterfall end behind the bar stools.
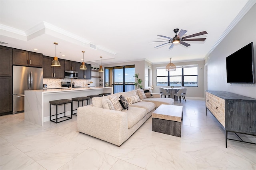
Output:
<instances>
[{"instance_id":1,"label":"white kitchen island with marble waterfall end behind the bar stools","mask_svg":"<svg viewBox=\"0 0 256 170\"><path fill-rule=\"evenodd\" d=\"M44 126L44 122L50 121L50 101L59 99L72 99L100 93L113 93L112 87L80 87L73 89L42 89L26 90L24 102L24 119L26 121ZM92 100L90 99L90 104ZM73 103L74 108L78 107L77 102ZM66 105L66 114L71 114L70 104ZM52 108L53 109L53 108ZM62 110L63 109L63 110ZM58 112L64 111L64 106L58 108Z\"/></svg>"}]
</instances>

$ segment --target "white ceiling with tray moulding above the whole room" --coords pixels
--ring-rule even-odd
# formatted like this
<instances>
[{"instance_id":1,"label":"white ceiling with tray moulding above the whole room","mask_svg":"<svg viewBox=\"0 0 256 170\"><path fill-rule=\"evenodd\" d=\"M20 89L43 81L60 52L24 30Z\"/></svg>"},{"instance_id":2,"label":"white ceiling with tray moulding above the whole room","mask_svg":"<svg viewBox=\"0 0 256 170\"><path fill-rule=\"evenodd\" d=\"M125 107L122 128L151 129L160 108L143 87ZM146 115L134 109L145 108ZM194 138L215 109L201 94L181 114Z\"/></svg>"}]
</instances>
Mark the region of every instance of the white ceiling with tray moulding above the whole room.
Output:
<instances>
[{"instance_id":1,"label":"white ceiling with tray moulding above the whole room","mask_svg":"<svg viewBox=\"0 0 256 170\"><path fill-rule=\"evenodd\" d=\"M0 41L5 46L86 63L147 59L151 63L203 60L255 3L248 0L0 1ZM247 4L246 4L247 3ZM249 6L249 7L248 7ZM247 8L246 8L247 7ZM242 10L242 11L241 11ZM230 25L231 24L231 25ZM149 43L207 31L204 42ZM241 32L241 35L243 33ZM239 36L239 35L238 35ZM97 49L90 48L90 43ZM65 55L65 56L62 56Z\"/></svg>"}]
</instances>

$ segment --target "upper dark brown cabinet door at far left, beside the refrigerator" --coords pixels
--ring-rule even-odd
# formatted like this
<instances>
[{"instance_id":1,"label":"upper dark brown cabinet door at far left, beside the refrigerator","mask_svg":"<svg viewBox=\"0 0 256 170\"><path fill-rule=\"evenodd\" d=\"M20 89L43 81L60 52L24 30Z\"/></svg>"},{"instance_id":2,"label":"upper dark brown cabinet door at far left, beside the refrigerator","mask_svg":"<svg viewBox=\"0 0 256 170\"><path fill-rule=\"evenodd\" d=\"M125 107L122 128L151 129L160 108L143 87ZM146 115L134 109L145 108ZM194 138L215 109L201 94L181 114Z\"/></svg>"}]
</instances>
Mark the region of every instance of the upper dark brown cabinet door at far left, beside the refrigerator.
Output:
<instances>
[{"instance_id":1,"label":"upper dark brown cabinet door at far left, beside the refrigerator","mask_svg":"<svg viewBox=\"0 0 256 170\"><path fill-rule=\"evenodd\" d=\"M0 46L0 76L12 77L12 48Z\"/></svg>"}]
</instances>

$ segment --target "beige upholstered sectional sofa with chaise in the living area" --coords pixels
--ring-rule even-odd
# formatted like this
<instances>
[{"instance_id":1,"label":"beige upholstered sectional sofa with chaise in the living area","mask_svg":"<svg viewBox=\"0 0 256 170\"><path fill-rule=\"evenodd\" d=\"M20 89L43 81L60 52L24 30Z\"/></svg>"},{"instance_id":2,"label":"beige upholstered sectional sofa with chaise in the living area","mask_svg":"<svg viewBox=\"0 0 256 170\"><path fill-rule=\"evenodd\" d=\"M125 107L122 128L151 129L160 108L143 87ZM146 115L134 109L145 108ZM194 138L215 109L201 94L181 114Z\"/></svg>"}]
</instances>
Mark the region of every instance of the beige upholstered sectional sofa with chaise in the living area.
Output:
<instances>
[{"instance_id":1,"label":"beige upholstered sectional sofa with chaise in the living area","mask_svg":"<svg viewBox=\"0 0 256 170\"><path fill-rule=\"evenodd\" d=\"M78 108L77 130L120 146L146 122L156 107L161 104L173 105L174 103L173 99L161 98L160 94L152 94L153 97L130 103L128 109L122 109L121 111L111 110L112 107L108 106L110 107L108 109L106 105L102 105L102 100L115 97L114 95L117 98L122 95L129 99L138 95L138 93L137 90L133 90L106 97L92 98L92 105Z\"/></svg>"}]
</instances>

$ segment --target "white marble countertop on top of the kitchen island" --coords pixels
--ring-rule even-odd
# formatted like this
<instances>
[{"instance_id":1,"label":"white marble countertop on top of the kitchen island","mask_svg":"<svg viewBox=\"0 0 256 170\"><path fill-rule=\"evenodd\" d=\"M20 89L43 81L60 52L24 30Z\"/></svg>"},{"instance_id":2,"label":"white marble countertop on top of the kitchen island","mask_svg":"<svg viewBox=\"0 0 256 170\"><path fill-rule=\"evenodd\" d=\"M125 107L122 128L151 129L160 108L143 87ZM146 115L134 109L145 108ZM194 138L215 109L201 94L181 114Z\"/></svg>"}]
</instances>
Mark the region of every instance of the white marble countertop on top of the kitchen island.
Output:
<instances>
[{"instance_id":1,"label":"white marble countertop on top of the kitchen island","mask_svg":"<svg viewBox=\"0 0 256 170\"><path fill-rule=\"evenodd\" d=\"M65 89L42 89L42 90L30 90L42 93L60 93L60 92L71 92L71 91L83 91L83 90L94 90L94 89L109 89L112 87L77 87L77 88L65 88Z\"/></svg>"}]
</instances>

